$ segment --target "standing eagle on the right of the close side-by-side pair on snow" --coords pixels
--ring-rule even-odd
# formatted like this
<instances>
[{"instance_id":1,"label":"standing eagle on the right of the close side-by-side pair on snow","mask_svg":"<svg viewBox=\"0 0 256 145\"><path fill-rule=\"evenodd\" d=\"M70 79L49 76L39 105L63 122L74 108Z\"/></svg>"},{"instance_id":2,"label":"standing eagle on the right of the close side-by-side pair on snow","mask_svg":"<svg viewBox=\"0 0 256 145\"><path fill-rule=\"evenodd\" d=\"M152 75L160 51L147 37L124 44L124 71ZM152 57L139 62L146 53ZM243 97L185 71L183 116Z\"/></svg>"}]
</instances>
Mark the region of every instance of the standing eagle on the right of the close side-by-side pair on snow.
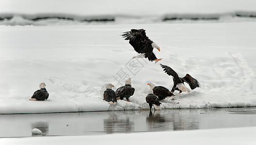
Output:
<instances>
[{"instance_id":1,"label":"standing eagle on the right of the close side-by-side pair on snow","mask_svg":"<svg viewBox=\"0 0 256 145\"><path fill-rule=\"evenodd\" d=\"M134 94L134 91L135 89L131 87L131 78L128 78L125 82L125 86L116 89L115 95L117 100L124 100L124 98L126 98L126 100L130 102L129 97Z\"/></svg>"}]
</instances>

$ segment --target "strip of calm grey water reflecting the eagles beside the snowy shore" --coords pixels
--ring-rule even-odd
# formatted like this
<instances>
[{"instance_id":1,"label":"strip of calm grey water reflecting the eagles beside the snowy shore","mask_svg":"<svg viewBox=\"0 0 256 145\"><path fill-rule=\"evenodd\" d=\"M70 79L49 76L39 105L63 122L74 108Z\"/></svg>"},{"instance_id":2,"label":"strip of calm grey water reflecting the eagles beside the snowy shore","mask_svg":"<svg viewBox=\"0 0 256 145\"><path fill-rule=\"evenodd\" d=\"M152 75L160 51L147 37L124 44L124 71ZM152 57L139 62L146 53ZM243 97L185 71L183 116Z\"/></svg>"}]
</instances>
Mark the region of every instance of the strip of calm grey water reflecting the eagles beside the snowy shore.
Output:
<instances>
[{"instance_id":1,"label":"strip of calm grey water reflecting the eagles beside the snowy shore","mask_svg":"<svg viewBox=\"0 0 256 145\"><path fill-rule=\"evenodd\" d=\"M0 137L33 136L33 128L54 136L252 126L255 107L0 115Z\"/></svg>"}]
</instances>

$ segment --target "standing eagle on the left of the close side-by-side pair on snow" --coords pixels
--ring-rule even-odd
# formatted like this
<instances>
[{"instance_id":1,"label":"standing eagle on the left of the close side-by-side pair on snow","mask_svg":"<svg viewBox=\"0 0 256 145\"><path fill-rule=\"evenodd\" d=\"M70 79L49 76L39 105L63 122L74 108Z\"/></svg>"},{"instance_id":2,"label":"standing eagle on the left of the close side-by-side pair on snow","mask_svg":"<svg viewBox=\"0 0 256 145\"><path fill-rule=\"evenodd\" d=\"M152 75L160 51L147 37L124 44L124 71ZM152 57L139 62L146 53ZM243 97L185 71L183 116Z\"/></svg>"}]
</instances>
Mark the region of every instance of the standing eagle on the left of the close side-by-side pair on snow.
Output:
<instances>
[{"instance_id":1,"label":"standing eagle on the left of the close side-by-side pair on snow","mask_svg":"<svg viewBox=\"0 0 256 145\"><path fill-rule=\"evenodd\" d=\"M116 104L116 96L115 92L112 90L112 87L114 87L112 84L106 85L106 90L103 93L103 100L106 102L109 102L111 105Z\"/></svg>"}]
</instances>

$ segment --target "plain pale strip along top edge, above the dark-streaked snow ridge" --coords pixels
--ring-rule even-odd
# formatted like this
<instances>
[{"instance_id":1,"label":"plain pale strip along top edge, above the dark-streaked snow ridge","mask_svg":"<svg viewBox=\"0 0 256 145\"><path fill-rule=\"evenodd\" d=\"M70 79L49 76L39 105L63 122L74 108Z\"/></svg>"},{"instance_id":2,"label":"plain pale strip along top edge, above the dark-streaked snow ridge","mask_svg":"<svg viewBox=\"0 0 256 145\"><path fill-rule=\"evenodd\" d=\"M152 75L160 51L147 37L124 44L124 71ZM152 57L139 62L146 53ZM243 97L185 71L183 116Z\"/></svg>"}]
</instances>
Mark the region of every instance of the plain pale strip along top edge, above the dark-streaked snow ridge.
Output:
<instances>
[{"instance_id":1,"label":"plain pale strip along top edge, above the dark-streaked snow ridge","mask_svg":"<svg viewBox=\"0 0 256 145\"><path fill-rule=\"evenodd\" d=\"M166 14L256 12L256 0L0 0L0 13Z\"/></svg>"}]
</instances>

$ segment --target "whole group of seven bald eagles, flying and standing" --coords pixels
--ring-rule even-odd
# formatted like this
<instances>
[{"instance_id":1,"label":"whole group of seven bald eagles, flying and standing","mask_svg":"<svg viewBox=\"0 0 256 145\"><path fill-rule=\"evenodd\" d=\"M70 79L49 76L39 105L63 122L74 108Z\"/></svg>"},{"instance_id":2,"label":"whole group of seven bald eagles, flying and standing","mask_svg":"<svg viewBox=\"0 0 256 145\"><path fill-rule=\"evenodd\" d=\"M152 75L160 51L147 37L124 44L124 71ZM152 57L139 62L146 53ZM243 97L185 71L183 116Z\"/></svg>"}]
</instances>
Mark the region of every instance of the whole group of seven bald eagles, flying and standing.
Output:
<instances>
[{"instance_id":1,"label":"whole group of seven bald eagles, flying and standing","mask_svg":"<svg viewBox=\"0 0 256 145\"><path fill-rule=\"evenodd\" d=\"M140 54L133 58L148 58L149 61L155 61L156 63L161 60L161 58L158 59L153 53L154 48L160 51L160 47L146 36L144 29L131 29L128 32L124 32L122 36L125 40L129 40L129 43L132 45L134 50ZM178 74L169 66L162 64L160 64L160 66L163 68L165 73L173 77L174 85L170 91L166 87L155 86L152 83L147 84L150 88L148 90L148 95L146 96L146 102L149 104L150 109L154 106L155 110L160 110L161 100L169 97L175 99L175 95L173 94L175 90L178 90L179 94L181 92L190 92L190 89L184 85L184 82L188 83L191 89L200 87L200 83L191 75L186 74L184 77L179 77ZM47 100L49 94L45 86L45 83L40 83L40 89L34 92L30 100ZM117 88L116 91L113 91L112 87L114 87L112 84L107 84L106 90L103 94L103 100L112 105L115 105L117 100L124 100L124 98L129 102L129 97L132 96L135 91L135 89L131 87L130 78L126 80L125 86Z\"/></svg>"}]
</instances>

